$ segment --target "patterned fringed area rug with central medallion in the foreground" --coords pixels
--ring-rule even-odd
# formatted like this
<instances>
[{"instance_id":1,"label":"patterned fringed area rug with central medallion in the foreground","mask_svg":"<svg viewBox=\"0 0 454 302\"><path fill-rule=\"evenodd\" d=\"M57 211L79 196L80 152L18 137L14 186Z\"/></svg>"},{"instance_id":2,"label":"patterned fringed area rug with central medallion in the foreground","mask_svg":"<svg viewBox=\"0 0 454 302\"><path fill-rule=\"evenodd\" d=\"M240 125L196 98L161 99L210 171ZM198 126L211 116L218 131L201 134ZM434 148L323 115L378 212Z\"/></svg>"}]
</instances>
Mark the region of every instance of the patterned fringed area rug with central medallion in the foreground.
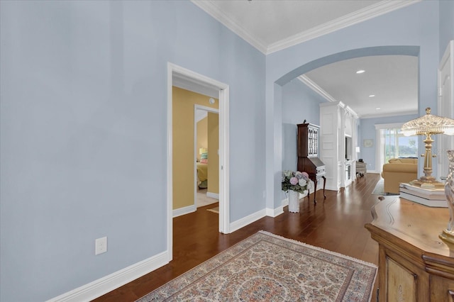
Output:
<instances>
[{"instance_id":1,"label":"patterned fringed area rug with central medallion in the foreground","mask_svg":"<svg viewBox=\"0 0 454 302\"><path fill-rule=\"evenodd\" d=\"M370 301L375 264L260 231L138 301Z\"/></svg>"}]
</instances>

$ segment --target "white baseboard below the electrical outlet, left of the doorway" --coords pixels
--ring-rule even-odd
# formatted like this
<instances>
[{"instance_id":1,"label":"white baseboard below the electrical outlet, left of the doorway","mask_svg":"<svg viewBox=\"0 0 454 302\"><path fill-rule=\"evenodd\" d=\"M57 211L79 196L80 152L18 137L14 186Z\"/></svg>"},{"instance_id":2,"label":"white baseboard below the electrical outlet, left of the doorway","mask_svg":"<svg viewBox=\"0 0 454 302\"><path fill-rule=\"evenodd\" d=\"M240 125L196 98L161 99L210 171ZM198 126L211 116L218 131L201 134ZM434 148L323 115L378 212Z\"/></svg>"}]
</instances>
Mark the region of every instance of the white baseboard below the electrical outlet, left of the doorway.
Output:
<instances>
[{"instance_id":1,"label":"white baseboard below the electrical outlet, left of the doorway","mask_svg":"<svg viewBox=\"0 0 454 302\"><path fill-rule=\"evenodd\" d=\"M77 289L63 293L60 296L51 298L48 302L79 302L79 301L92 301L105 293L109 293L118 287L123 286L139 277L153 272L155 269L163 267L169 263L169 255L166 252L162 252L153 257L145 259L141 262L137 262L129 267L109 274L97 279L89 284L80 286Z\"/></svg>"}]
</instances>

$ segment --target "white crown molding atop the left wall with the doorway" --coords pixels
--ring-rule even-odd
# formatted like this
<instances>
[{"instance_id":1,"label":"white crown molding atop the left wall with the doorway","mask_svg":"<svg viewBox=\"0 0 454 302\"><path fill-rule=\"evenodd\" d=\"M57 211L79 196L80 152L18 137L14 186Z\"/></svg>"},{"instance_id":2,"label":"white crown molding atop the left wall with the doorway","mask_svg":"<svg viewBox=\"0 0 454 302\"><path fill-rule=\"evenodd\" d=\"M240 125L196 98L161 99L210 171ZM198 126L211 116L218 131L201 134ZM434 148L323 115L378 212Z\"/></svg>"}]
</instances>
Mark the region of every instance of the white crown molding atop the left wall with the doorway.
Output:
<instances>
[{"instance_id":1,"label":"white crown molding atop the left wall with the doorway","mask_svg":"<svg viewBox=\"0 0 454 302\"><path fill-rule=\"evenodd\" d=\"M191 2L196 6L199 6L200 9L208 13L217 21L221 22L228 29L232 30L233 33L236 33L236 35L239 35L240 38L243 38L243 40L245 40L247 43L253 45L253 47L257 48L260 52L266 55L267 52L266 45L260 42L260 40L254 38L253 35L250 35L250 33L244 30L244 28L242 28L238 23L236 23L235 20L228 17L225 13L223 13L223 11L218 9L218 7L211 3L211 1L191 0Z\"/></svg>"}]
</instances>

